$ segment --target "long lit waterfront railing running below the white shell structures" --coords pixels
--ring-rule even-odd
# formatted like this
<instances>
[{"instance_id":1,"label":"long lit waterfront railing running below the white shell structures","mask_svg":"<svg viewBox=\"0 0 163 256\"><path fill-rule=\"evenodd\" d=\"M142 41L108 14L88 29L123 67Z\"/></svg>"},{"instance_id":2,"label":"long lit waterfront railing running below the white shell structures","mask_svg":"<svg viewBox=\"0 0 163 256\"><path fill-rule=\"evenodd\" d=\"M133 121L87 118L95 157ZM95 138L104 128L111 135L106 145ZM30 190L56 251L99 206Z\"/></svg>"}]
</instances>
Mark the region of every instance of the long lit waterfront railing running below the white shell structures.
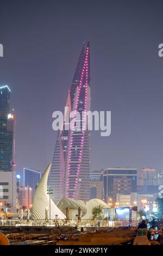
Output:
<instances>
[{"instance_id":1,"label":"long lit waterfront railing running below the white shell structures","mask_svg":"<svg viewBox=\"0 0 163 256\"><path fill-rule=\"evenodd\" d=\"M136 227L136 220L0 220L0 226L32 227Z\"/></svg>"}]
</instances>

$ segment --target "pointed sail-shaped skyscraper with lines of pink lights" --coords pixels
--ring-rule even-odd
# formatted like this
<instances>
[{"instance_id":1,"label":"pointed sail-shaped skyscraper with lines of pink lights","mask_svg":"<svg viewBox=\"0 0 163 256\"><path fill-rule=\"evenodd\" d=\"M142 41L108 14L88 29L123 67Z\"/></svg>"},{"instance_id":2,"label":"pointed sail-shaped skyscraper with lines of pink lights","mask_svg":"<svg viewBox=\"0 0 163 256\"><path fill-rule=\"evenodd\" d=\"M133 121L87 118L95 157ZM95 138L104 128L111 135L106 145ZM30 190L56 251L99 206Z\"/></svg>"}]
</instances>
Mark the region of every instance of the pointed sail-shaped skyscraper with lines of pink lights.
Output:
<instances>
[{"instance_id":1,"label":"pointed sail-shaped skyscraper with lines of pink lights","mask_svg":"<svg viewBox=\"0 0 163 256\"><path fill-rule=\"evenodd\" d=\"M90 46L83 45L68 91L66 107L78 111L90 109ZM67 109L67 108L66 108ZM78 123L78 115L74 115ZM62 197L90 199L90 132L86 119L72 130L65 129L73 118L68 112L64 115L63 130L58 132L48 184L53 189L52 199L57 203ZM86 129L84 126L86 124Z\"/></svg>"}]
</instances>

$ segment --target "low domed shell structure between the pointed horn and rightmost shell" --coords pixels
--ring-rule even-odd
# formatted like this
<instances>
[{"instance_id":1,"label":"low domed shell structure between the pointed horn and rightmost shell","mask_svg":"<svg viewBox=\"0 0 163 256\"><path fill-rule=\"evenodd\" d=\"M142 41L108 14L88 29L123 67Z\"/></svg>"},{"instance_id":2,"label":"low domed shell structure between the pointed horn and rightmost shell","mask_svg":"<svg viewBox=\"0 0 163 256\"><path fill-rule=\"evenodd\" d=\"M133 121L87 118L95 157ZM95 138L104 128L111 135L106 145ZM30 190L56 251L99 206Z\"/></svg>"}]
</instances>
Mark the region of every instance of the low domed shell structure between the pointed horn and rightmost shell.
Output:
<instances>
[{"instance_id":1,"label":"low domed shell structure between the pointed horn and rightmost shell","mask_svg":"<svg viewBox=\"0 0 163 256\"><path fill-rule=\"evenodd\" d=\"M78 215L78 209L81 209L81 216L86 213L86 204L82 200L73 200L71 198L62 198L58 204L58 208L66 215L66 208L68 207L70 220L75 219Z\"/></svg>"}]
</instances>

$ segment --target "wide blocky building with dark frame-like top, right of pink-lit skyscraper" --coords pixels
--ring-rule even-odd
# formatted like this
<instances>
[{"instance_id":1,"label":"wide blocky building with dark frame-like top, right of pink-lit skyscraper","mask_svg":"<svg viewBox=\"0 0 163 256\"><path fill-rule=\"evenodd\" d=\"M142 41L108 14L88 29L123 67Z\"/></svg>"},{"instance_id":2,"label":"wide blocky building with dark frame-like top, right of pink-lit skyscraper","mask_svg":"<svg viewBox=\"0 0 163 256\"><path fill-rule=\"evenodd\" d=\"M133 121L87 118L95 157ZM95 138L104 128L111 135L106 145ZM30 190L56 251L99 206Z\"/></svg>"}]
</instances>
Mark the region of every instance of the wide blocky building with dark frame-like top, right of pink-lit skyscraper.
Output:
<instances>
[{"instance_id":1,"label":"wide blocky building with dark frame-like top, right of pink-lit skyscraper","mask_svg":"<svg viewBox=\"0 0 163 256\"><path fill-rule=\"evenodd\" d=\"M104 200L116 203L117 194L136 192L137 169L106 168L103 170Z\"/></svg>"}]
</instances>

